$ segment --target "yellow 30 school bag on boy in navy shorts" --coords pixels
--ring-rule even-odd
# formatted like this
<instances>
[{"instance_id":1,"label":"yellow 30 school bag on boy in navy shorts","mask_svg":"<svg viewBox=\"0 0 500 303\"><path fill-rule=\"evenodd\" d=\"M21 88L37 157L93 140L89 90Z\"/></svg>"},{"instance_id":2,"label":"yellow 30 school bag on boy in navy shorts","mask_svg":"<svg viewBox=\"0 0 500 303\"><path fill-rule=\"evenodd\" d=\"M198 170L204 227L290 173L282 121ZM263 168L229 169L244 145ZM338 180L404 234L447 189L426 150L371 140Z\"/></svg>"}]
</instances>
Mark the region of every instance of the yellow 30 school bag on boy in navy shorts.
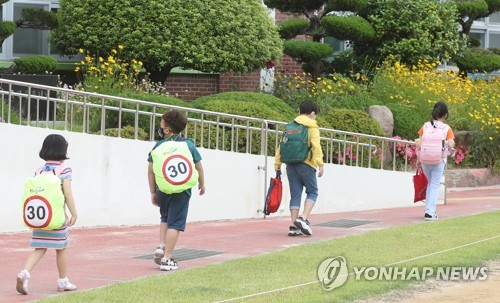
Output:
<instances>
[{"instance_id":1,"label":"yellow 30 school bag on boy in navy shorts","mask_svg":"<svg viewBox=\"0 0 500 303\"><path fill-rule=\"evenodd\" d=\"M198 183L198 171L186 139L179 140L163 142L151 151L156 185L166 194L183 192Z\"/></svg>"}]
</instances>

